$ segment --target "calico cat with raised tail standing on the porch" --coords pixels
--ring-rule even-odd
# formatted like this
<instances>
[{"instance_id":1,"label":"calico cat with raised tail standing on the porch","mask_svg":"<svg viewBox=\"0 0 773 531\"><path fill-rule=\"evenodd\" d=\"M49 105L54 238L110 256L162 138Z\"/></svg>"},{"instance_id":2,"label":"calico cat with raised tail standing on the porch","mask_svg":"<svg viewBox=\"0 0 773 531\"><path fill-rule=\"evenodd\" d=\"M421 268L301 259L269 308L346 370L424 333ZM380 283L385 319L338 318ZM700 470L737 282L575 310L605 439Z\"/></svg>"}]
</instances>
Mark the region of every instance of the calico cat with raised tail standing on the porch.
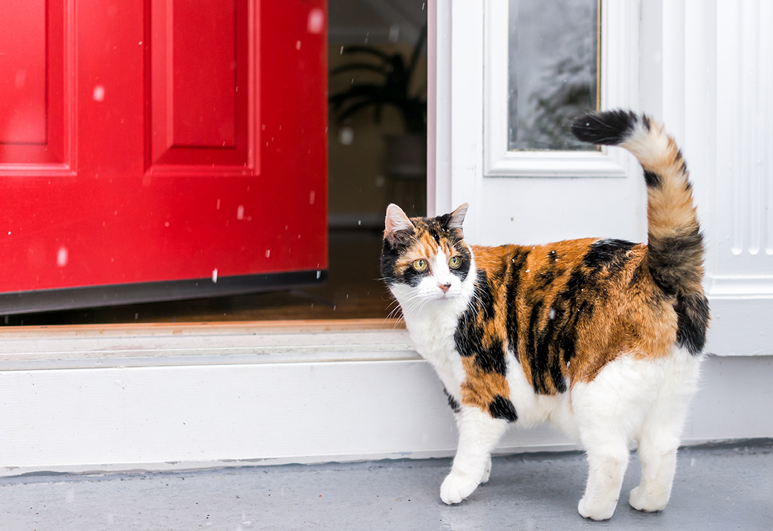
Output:
<instances>
[{"instance_id":1,"label":"calico cat with raised tail standing on the porch","mask_svg":"<svg viewBox=\"0 0 773 531\"><path fill-rule=\"evenodd\" d=\"M632 112L588 114L572 131L638 158L647 244L587 238L470 246L462 233L466 203L434 218L386 209L383 278L458 425L458 451L440 492L447 504L488 481L491 452L509 424L544 420L587 452L582 516L612 516L634 440L642 481L630 504L658 511L669 501L709 321L686 164L673 138Z\"/></svg>"}]
</instances>

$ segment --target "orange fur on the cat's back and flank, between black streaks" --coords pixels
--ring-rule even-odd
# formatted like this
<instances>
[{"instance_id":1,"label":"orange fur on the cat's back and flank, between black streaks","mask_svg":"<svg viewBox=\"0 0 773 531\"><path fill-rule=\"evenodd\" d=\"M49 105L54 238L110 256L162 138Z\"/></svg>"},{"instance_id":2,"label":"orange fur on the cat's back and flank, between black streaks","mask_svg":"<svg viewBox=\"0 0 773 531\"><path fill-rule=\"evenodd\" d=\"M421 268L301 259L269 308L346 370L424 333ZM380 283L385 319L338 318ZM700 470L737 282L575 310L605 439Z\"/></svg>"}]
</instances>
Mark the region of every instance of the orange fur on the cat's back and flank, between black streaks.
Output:
<instances>
[{"instance_id":1,"label":"orange fur on the cat's back and flank, between black streaks","mask_svg":"<svg viewBox=\"0 0 773 531\"><path fill-rule=\"evenodd\" d=\"M646 358L666 356L676 340L677 317L673 300L664 298L652 282L649 270L640 267L646 256L646 246L638 244L628 250L625 265L619 271L601 267L598 274L594 274L584 260L596 241L588 238L533 247L472 247L476 267L486 272L494 298L495 318L485 322L482 312L478 312L479 324L485 330L484 340L489 335L499 335L500 339L506 340L505 299L510 278L506 267L512 263L507 257L528 253L526 263L519 271L512 272L519 281L515 308L510 308L516 312L518 344L508 345L508 349L518 353L526 379L532 384L535 375L530 358L537 353L528 339L530 334L539 335L547 330L550 321L556 318L559 309L554 305L567 291L573 274L586 274L594 281L581 287L576 297L564 305L564 311L581 311L584 301L593 304L594 310L574 322L574 354L568 363L564 359L555 359L562 352L553 344L547 345L550 359L545 363L546 366L556 363L570 384L593 380L604 365L622 354ZM587 294L583 293L585 289L589 290ZM599 303L599 298L603 302ZM536 318L532 317L534 301L539 301L543 308ZM568 321L569 318L565 322ZM543 392L560 392L554 378L541 376L545 386Z\"/></svg>"}]
</instances>

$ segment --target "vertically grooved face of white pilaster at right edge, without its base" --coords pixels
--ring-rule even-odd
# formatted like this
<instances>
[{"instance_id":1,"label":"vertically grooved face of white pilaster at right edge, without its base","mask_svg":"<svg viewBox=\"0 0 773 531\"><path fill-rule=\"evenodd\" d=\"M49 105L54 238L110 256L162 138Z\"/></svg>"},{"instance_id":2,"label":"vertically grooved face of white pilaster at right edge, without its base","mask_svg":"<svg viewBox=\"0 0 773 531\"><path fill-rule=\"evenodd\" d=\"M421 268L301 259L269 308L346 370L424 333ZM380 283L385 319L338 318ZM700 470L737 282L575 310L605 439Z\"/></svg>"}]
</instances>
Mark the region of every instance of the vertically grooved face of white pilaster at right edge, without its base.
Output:
<instances>
[{"instance_id":1,"label":"vertically grooved face of white pilaster at right edge, without its base","mask_svg":"<svg viewBox=\"0 0 773 531\"><path fill-rule=\"evenodd\" d=\"M713 274L773 284L773 3L719 2L717 9Z\"/></svg>"}]
</instances>

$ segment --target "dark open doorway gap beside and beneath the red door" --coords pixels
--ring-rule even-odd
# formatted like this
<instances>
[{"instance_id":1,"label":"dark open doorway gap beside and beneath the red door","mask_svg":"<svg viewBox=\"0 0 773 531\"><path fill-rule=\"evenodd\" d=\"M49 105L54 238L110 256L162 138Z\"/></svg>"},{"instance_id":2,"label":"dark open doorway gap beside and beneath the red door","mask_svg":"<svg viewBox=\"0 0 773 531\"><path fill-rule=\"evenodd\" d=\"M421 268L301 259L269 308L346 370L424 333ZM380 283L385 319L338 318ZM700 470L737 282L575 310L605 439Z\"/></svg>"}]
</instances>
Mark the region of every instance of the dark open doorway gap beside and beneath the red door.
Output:
<instances>
[{"instance_id":1,"label":"dark open doorway gap beside and beneath the red door","mask_svg":"<svg viewBox=\"0 0 773 531\"><path fill-rule=\"evenodd\" d=\"M415 0L329 1L329 94L349 90L349 97L329 107L325 284L4 315L0 325L387 318L394 306L379 279L383 213L398 203L410 215L424 215L427 203L426 22L427 6ZM400 87L410 100L402 108Z\"/></svg>"}]
</instances>

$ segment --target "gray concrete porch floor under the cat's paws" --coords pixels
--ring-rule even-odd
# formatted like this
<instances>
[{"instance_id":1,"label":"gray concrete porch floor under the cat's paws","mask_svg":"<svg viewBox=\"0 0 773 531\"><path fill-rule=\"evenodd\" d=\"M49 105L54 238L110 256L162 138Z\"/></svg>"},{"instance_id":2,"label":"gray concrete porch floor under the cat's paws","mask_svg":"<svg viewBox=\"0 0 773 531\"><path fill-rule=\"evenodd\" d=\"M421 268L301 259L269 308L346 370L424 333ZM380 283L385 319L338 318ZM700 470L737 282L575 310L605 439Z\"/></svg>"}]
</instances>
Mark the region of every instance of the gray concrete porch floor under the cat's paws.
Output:
<instances>
[{"instance_id":1,"label":"gray concrete porch floor under the cat's paws","mask_svg":"<svg viewBox=\"0 0 773 531\"><path fill-rule=\"evenodd\" d=\"M460 505L438 496L450 459L220 468L0 479L0 529L773 529L773 441L684 448L666 510L628 506L628 467L615 515L577 513L584 456L494 459L491 480Z\"/></svg>"}]
</instances>

